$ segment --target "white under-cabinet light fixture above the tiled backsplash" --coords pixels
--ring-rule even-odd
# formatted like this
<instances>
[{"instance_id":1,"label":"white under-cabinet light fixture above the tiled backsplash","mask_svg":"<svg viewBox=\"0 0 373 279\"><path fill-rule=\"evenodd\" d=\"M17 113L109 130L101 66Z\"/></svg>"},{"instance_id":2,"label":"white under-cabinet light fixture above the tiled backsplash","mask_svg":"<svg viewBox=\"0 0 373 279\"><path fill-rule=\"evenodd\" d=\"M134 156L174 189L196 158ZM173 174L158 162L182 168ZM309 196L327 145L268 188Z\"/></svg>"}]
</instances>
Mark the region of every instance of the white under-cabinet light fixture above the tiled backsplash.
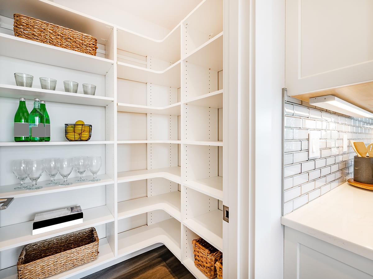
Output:
<instances>
[{"instance_id":1,"label":"white under-cabinet light fixture above the tiled backsplash","mask_svg":"<svg viewBox=\"0 0 373 279\"><path fill-rule=\"evenodd\" d=\"M310 98L310 105L319 106L320 108L329 109L345 115L354 116L357 118L367 117L372 118L373 113L352 105L333 95Z\"/></svg>"}]
</instances>

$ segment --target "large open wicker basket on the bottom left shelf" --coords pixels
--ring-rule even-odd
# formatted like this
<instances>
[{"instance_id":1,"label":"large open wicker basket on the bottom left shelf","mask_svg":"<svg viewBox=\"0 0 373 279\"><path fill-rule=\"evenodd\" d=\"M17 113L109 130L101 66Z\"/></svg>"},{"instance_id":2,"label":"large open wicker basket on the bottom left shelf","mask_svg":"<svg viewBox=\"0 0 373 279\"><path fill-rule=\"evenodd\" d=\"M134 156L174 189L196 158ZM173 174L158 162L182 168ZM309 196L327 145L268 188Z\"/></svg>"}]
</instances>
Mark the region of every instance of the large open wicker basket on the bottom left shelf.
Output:
<instances>
[{"instance_id":1,"label":"large open wicker basket on the bottom left shelf","mask_svg":"<svg viewBox=\"0 0 373 279\"><path fill-rule=\"evenodd\" d=\"M84 263L98 255L95 228L71 232L23 246L18 258L19 279L43 279Z\"/></svg>"}]
</instances>

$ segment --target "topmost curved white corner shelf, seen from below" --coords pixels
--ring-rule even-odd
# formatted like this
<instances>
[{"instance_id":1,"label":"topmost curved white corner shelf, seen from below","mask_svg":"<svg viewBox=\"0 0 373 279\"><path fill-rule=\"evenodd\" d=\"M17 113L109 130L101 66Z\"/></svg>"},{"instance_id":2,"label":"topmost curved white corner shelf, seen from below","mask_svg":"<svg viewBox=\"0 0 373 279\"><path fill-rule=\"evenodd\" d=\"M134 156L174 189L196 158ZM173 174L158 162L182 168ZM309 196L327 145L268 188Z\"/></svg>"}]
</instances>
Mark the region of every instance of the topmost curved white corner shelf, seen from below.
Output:
<instances>
[{"instance_id":1,"label":"topmost curved white corner shelf, seen from below","mask_svg":"<svg viewBox=\"0 0 373 279\"><path fill-rule=\"evenodd\" d=\"M175 63L180 60L180 23L162 40L132 32L128 29L117 28L117 48L143 56Z\"/></svg>"}]
</instances>

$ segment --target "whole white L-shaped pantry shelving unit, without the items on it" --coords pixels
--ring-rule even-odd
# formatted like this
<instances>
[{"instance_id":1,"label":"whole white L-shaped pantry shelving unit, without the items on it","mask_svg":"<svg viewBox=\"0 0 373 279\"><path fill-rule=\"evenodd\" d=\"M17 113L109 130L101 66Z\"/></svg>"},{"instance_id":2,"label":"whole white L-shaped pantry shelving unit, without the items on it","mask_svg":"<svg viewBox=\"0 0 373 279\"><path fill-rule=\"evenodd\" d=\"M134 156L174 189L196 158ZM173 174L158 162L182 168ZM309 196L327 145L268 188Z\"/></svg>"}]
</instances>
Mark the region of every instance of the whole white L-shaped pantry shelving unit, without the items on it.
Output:
<instances>
[{"instance_id":1,"label":"whole white L-shaped pantry shelving unit, without the items on it","mask_svg":"<svg viewBox=\"0 0 373 279\"><path fill-rule=\"evenodd\" d=\"M0 164L103 157L100 182L76 183L73 172L72 185L46 186L43 174L40 190L14 190L12 170L0 169L0 196L15 198L0 212L0 257L6 257L0 278L17 278L23 245L91 226L100 238L98 259L51 278L79 276L156 243L197 278L206 278L194 266L192 240L203 237L223 251L223 1L203 0L162 40L50 1L0 5L6 7L0 16L22 13L88 33L104 45L104 54L94 57L0 33L1 116L7 125L0 135ZM15 72L32 74L33 87L16 86ZM56 91L41 89L41 76L56 78ZM80 89L81 83L96 84L96 95L66 93L63 80L78 81ZM33 98L47 101L51 142L13 142L19 97L29 110ZM69 142L63 124L79 119L93 125L92 138ZM31 235L36 213L74 205L82 206L83 224Z\"/></svg>"}]
</instances>

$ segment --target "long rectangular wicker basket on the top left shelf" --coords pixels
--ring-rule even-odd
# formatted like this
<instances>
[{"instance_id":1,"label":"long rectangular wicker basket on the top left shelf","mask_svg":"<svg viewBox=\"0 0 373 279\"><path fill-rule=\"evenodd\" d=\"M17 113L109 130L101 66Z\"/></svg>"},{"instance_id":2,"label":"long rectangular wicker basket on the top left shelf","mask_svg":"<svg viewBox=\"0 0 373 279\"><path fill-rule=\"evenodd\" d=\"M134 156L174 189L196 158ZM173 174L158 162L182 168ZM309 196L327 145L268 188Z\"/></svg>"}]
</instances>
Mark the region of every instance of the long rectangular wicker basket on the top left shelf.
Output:
<instances>
[{"instance_id":1,"label":"long rectangular wicker basket on the top left shelf","mask_svg":"<svg viewBox=\"0 0 373 279\"><path fill-rule=\"evenodd\" d=\"M16 37L96 55L97 39L91 35L18 13L13 17Z\"/></svg>"}]
</instances>

